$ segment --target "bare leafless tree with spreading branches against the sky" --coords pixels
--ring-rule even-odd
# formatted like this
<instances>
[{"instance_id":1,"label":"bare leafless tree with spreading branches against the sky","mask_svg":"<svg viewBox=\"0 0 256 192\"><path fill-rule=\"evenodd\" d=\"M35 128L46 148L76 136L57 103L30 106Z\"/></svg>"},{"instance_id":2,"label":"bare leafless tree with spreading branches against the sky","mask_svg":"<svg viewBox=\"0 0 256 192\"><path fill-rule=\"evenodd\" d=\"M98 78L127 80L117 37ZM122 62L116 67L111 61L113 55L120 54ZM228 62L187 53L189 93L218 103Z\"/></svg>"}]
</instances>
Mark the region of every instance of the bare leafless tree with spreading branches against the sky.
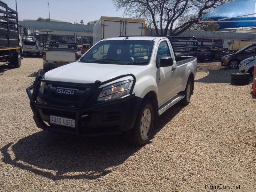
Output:
<instances>
[{"instance_id":1,"label":"bare leafless tree with spreading branches against the sky","mask_svg":"<svg viewBox=\"0 0 256 192\"><path fill-rule=\"evenodd\" d=\"M146 19L156 34L177 36L191 28L211 9L232 0L112 0L117 10L125 8L127 16ZM192 14L192 17L190 16ZM179 19L183 17L183 22Z\"/></svg>"}]
</instances>

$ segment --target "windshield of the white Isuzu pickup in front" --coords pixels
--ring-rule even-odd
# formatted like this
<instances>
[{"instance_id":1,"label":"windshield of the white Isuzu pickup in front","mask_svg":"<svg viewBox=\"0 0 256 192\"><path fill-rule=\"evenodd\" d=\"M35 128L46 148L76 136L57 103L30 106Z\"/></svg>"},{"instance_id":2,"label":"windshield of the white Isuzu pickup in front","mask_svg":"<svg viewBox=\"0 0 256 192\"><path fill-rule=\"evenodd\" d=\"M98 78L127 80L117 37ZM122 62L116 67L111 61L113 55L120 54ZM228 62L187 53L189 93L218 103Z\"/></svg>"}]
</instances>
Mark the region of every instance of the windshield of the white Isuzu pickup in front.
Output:
<instances>
[{"instance_id":1,"label":"windshield of the white Isuzu pickup in front","mask_svg":"<svg viewBox=\"0 0 256 192\"><path fill-rule=\"evenodd\" d=\"M153 46L154 41L145 40L100 41L87 51L79 62L147 65Z\"/></svg>"}]
</instances>

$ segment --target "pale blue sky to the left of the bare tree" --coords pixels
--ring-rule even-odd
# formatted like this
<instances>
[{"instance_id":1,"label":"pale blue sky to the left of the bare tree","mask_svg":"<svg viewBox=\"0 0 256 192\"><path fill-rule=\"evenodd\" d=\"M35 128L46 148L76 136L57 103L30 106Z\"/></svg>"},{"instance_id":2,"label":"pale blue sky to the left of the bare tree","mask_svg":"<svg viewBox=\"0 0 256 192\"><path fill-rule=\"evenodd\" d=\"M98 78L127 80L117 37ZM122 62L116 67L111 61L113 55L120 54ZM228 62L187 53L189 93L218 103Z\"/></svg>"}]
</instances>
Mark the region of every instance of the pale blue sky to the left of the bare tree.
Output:
<instances>
[{"instance_id":1,"label":"pale blue sky to the left of the bare tree","mask_svg":"<svg viewBox=\"0 0 256 192\"><path fill-rule=\"evenodd\" d=\"M15 0L2 0L16 10ZM124 10L116 11L111 0L17 0L19 20L49 18L67 22L84 20L84 24L101 16L123 17Z\"/></svg>"}]
</instances>

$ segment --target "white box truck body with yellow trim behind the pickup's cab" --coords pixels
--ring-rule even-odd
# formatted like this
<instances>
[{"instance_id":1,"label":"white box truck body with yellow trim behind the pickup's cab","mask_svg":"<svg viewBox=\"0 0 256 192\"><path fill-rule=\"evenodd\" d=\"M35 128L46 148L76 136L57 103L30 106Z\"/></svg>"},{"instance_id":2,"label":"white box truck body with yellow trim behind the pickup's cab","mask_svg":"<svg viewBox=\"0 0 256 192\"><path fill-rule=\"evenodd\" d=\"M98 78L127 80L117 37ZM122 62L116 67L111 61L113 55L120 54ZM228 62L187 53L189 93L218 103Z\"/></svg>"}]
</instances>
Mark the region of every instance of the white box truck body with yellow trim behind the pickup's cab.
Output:
<instances>
[{"instance_id":1,"label":"white box truck body with yellow trim behind the pickup's cab","mask_svg":"<svg viewBox=\"0 0 256 192\"><path fill-rule=\"evenodd\" d=\"M142 19L101 17L93 26L93 44L110 37L145 35L145 22Z\"/></svg>"}]
</instances>

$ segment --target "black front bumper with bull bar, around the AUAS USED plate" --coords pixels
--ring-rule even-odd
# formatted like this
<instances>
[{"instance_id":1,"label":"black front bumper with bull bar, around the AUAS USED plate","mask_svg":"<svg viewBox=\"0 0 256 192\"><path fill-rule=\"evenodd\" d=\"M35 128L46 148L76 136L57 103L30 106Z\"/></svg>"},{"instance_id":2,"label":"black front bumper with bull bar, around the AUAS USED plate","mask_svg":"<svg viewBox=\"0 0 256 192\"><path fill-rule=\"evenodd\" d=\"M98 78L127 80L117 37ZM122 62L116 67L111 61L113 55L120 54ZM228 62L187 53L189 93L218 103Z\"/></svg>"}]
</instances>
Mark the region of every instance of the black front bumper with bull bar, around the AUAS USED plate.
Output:
<instances>
[{"instance_id":1,"label":"black front bumper with bull bar, around the AUAS USED plate","mask_svg":"<svg viewBox=\"0 0 256 192\"><path fill-rule=\"evenodd\" d=\"M133 77L132 88L128 95L109 101L92 102L93 97L98 94L101 85L115 81L124 76ZM132 93L136 81L135 76L132 74L124 76L119 76L102 83L95 81L95 83L91 85L90 91L87 91L87 94L81 97L79 105L75 105L71 102L60 104L61 99L59 100L60 102L57 100L44 102L39 97L41 94L39 92L40 84L41 82L52 82L43 80L41 76L36 77L34 84L29 86L26 90L36 125L44 130L74 133L84 136L117 134L131 129L135 124L138 108L142 99ZM59 83L62 86L70 84L65 82ZM88 84L84 85L88 86ZM79 84L79 86L82 85ZM33 90L32 93L31 90ZM75 119L75 128L50 124L50 115Z\"/></svg>"}]
</instances>

